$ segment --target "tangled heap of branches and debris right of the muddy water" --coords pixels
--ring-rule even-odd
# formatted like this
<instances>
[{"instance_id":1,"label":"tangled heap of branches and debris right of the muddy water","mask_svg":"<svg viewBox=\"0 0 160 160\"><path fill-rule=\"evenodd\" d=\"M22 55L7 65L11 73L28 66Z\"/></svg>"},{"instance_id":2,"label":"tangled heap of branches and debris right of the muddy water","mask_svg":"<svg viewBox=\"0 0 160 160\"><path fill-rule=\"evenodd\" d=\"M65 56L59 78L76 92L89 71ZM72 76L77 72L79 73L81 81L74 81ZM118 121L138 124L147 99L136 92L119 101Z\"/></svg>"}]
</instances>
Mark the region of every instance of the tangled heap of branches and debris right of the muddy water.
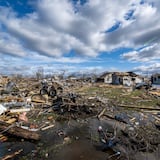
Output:
<instances>
[{"instance_id":1,"label":"tangled heap of branches and debris right of the muddy water","mask_svg":"<svg viewBox=\"0 0 160 160\"><path fill-rule=\"evenodd\" d=\"M112 108L112 110L111 110ZM98 119L102 150L113 152L118 159L136 159L139 154L158 154L160 149L160 115L104 108ZM111 157L108 157L110 159ZM144 158L144 157L141 157Z\"/></svg>"}]
</instances>

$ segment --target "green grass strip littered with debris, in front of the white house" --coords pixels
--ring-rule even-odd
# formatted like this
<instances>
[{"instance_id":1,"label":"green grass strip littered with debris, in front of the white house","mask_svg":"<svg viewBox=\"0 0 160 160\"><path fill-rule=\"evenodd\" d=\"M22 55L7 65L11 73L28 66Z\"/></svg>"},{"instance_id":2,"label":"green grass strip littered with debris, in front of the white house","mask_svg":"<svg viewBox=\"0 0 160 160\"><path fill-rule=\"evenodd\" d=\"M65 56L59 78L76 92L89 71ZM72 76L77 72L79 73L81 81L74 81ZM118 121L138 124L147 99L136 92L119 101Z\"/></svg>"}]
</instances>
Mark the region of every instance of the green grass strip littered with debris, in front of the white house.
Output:
<instances>
[{"instance_id":1,"label":"green grass strip littered with debris, in front of the white house","mask_svg":"<svg viewBox=\"0 0 160 160\"><path fill-rule=\"evenodd\" d=\"M117 104L155 107L160 103L160 99L148 95L145 90L128 90L126 87L104 85L102 87L85 86L76 90L76 92L86 97L99 96L108 98Z\"/></svg>"}]
</instances>

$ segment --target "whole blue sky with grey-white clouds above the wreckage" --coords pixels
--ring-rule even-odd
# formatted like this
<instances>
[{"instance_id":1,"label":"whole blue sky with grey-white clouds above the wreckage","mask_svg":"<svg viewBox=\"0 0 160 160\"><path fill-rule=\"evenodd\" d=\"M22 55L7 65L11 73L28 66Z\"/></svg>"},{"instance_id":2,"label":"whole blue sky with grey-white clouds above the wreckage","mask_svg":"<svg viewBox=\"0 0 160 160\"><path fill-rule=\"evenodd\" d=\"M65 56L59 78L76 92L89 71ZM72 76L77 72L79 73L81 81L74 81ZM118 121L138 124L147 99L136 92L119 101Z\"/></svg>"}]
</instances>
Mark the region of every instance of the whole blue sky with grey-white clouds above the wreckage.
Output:
<instances>
[{"instance_id":1,"label":"whole blue sky with grey-white clouds above the wreckage","mask_svg":"<svg viewBox=\"0 0 160 160\"><path fill-rule=\"evenodd\" d=\"M0 0L0 73L160 72L160 0Z\"/></svg>"}]
</instances>

